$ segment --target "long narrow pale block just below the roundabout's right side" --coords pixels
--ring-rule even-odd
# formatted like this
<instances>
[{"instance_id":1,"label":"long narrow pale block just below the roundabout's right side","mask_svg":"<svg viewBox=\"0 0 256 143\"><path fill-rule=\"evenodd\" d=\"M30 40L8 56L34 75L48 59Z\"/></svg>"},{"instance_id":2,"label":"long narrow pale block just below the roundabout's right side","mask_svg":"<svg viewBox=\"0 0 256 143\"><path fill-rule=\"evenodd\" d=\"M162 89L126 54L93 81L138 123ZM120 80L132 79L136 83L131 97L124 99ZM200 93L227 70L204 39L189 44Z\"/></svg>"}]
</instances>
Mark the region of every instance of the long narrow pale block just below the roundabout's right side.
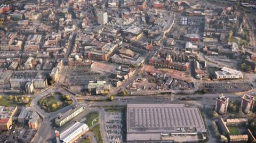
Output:
<instances>
[{"instance_id":1,"label":"long narrow pale block just below the roundabout's right side","mask_svg":"<svg viewBox=\"0 0 256 143\"><path fill-rule=\"evenodd\" d=\"M73 119L78 114L84 111L84 107L81 105L76 105L74 108L71 108L68 112L64 114L59 114L55 119L55 124L61 127L63 124L66 124L69 120Z\"/></svg>"}]
</instances>

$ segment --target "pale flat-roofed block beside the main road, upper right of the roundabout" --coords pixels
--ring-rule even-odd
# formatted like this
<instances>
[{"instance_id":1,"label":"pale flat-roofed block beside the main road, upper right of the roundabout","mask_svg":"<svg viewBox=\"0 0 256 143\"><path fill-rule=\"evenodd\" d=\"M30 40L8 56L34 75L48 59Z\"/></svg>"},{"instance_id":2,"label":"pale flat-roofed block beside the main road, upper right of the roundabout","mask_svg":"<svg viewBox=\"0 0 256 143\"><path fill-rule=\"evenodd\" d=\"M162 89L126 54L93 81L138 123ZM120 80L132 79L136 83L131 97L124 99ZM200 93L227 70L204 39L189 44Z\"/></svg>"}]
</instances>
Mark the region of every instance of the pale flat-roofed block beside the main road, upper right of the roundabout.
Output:
<instances>
[{"instance_id":1,"label":"pale flat-roofed block beside the main road, upper right of the roundabout","mask_svg":"<svg viewBox=\"0 0 256 143\"><path fill-rule=\"evenodd\" d=\"M110 91L110 83L107 84L106 81L89 81L87 89L89 92L95 91L96 94L103 94L105 91Z\"/></svg>"}]
</instances>

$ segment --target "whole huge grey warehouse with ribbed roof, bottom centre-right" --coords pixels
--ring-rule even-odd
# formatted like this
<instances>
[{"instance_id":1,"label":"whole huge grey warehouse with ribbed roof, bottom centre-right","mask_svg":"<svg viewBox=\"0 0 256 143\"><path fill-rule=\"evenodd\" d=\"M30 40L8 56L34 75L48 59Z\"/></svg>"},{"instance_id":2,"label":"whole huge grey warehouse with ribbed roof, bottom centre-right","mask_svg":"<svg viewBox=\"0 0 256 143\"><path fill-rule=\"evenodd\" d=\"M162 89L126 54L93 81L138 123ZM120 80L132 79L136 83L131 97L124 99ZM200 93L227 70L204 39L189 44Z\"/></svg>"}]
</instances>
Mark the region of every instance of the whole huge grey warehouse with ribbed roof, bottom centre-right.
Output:
<instances>
[{"instance_id":1,"label":"whole huge grey warehouse with ribbed roof, bottom centre-right","mask_svg":"<svg viewBox=\"0 0 256 143\"><path fill-rule=\"evenodd\" d=\"M198 142L206 128L198 107L127 104L127 143Z\"/></svg>"}]
</instances>

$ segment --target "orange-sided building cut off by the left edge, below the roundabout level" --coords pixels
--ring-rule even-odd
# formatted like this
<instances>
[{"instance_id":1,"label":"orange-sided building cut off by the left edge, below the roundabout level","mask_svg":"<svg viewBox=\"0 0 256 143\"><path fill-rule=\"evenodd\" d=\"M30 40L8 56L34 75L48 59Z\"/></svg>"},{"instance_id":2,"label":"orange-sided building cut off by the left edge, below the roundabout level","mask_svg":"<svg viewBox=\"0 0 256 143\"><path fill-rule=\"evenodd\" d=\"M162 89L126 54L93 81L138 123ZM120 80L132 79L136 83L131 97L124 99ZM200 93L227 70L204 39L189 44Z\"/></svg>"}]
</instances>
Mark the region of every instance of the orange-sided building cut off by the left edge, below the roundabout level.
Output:
<instances>
[{"instance_id":1,"label":"orange-sided building cut off by the left edge, below the roundabout level","mask_svg":"<svg viewBox=\"0 0 256 143\"><path fill-rule=\"evenodd\" d=\"M12 123L13 116L17 115L17 106L0 106L0 130L9 131Z\"/></svg>"}]
</instances>

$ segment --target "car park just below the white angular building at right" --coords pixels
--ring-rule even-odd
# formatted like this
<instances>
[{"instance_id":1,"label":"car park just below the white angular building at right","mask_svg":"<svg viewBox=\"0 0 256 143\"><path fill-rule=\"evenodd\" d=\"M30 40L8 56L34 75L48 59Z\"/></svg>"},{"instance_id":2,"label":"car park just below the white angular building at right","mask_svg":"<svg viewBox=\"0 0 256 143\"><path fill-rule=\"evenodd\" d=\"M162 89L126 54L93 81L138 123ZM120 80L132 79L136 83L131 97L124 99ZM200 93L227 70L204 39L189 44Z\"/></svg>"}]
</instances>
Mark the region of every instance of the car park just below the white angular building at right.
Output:
<instances>
[{"instance_id":1,"label":"car park just below the white angular building at right","mask_svg":"<svg viewBox=\"0 0 256 143\"><path fill-rule=\"evenodd\" d=\"M244 92L252 89L249 83L202 83L201 88L212 93Z\"/></svg>"}]
</instances>

